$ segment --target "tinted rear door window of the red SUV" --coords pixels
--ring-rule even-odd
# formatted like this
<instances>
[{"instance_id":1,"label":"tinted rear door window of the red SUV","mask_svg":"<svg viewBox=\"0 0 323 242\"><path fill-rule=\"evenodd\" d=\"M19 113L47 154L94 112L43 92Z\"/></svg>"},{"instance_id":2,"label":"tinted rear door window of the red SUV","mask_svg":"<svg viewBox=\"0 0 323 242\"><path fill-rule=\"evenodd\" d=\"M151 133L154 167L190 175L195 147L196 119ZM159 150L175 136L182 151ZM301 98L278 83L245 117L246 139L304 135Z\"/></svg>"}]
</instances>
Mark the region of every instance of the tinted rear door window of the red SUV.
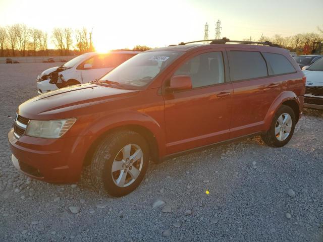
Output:
<instances>
[{"instance_id":1,"label":"tinted rear door window of the red SUV","mask_svg":"<svg viewBox=\"0 0 323 242\"><path fill-rule=\"evenodd\" d=\"M229 56L232 81L267 76L266 63L260 52L230 51Z\"/></svg>"}]
</instances>

